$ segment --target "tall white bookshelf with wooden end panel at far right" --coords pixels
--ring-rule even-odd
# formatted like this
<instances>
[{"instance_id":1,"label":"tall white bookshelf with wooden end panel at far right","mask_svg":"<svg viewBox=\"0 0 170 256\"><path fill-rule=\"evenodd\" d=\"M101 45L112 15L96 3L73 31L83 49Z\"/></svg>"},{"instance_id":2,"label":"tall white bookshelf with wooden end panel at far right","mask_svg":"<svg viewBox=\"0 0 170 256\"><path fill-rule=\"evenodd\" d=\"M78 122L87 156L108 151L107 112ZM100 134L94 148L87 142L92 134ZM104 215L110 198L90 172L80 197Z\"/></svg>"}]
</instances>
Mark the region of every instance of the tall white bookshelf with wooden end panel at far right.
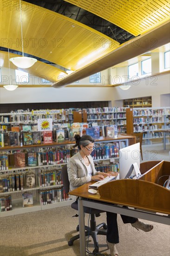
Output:
<instances>
[{"instance_id":1,"label":"tall white bookshelf with wooden end panel at far right","mask_svg":"<svg viewBox=\"0 0 170 256\"><path fill-rule=\"evenodd\" d=\"M170 108L127 108L127 134L143 132L145 144L163 141L163 130L170 129ZM166 136L169 140L169 137Z\"/></svg>"}]
</instances>

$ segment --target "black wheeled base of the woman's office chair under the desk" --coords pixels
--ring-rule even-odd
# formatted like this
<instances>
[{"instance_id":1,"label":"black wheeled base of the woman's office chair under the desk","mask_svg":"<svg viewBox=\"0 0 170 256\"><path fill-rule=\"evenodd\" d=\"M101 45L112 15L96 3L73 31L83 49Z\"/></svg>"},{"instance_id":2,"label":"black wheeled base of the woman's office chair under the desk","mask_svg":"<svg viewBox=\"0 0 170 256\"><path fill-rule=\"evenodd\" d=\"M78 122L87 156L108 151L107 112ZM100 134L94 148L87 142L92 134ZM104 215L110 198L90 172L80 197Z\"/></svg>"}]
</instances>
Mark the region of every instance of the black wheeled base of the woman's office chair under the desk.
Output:
<instances>
[{"instance_id":1,"label":"black wheeled base of the woman's office chair under the desk","mask_svg":"<svg viewBox=\"0 0 170 256\"><path fill-rule=\"evenodd\" d=\"M105 224L105 222L96 225L95 216L93 214L91 214L90 223L91 223L90 227L85 226L85 230L86 230L85 236L92 236L93 243L94 243L93 253L98 253L98 235L105 235L105 236L107 235L107 225ZM79 228L77 228L77 230L78 229ZM73 236L68 242L68 245L72 246L74 241L79 238L80 238L79 234L76 236Z\"/></svg>"}]
</instances>

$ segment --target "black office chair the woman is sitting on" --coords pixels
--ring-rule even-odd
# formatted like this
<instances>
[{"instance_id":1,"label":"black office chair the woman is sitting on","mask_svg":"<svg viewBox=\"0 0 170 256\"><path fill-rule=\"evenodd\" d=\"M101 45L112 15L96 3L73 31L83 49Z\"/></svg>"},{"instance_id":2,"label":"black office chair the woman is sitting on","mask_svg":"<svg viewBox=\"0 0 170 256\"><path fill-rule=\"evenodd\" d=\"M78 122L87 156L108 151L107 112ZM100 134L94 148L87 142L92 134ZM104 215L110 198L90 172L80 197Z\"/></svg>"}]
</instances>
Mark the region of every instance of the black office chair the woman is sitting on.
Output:
<instances>
[{"instance_id":1,"label":"black office chair the woman is sitting on","mask_svg":"<svg viewBox=\"0 0 170 256\"><path fill-rule=\"evenodd\" d=\"M61 169L61 179L63 182L63 186L65 189L65 192L68 194L70 189L70 182L68 179L68 173L67 173L67 165L65 164ZM72 209L78 210L78 203L73 202L71 204ZM84 207L84 212L90 214L91 220L90 220L90 227L85 226L85 236L92 236L93 242L94 242L94 250L93 253L98 253L98 236L97 235L106 235L107 234L107 225L103 222L99 225L96 225L96 219L95 216L100 216L101 212L104 212L102 210L92 209L88 207ZM101 229L103 227L103 229ZM79 231L79 226L77 226L77 231ZM72 246L74 241L79 239L79 234L76 236L73 236L70 241L68 242L69 246Z\"/></svg>"}]
</instances>

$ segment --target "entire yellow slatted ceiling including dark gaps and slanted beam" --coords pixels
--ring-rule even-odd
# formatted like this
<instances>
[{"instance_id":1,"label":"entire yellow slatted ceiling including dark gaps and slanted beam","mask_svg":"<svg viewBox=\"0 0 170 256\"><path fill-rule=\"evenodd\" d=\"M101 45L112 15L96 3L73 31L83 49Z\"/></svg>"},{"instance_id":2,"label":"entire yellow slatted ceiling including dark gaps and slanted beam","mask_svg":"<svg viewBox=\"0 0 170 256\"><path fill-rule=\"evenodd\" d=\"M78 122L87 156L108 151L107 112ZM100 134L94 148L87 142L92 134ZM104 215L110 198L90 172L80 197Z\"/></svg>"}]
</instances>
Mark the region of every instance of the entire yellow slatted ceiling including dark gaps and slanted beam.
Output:
<instances>
[{"instance_id":1,"label":"entire yellow slatted ceiling including dark gaps and slanted beam","mask_svg":"<svg viewBox=\"0 0 170 256\"><path fill-rule=\"evenodd\" d=\"M10 58L22 54L20 6L0 1L0 60L8 67L8 48ZM153 49L151 43L144 47L144 40L155 38L157 47L170 41L169 0L28 0L21 5L24 55L38 60L26 71L45 75L56 88ZM76 72L67 76L67 69Z\"/></svg>"}]
</instances>

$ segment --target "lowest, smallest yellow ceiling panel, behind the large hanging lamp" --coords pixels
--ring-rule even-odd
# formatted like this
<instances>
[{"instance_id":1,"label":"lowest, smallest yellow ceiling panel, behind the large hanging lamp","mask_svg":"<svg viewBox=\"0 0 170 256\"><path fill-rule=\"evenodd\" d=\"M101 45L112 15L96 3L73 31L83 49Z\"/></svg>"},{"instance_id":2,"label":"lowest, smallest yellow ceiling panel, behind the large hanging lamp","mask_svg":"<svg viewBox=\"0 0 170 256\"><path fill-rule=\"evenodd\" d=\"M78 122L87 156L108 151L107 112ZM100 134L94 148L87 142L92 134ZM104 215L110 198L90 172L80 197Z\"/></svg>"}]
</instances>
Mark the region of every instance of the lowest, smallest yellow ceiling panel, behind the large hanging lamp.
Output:
<instances>
[{"instance_id":1,"label":"lowest, smallest yellow ceiling panel, behind the large hanging lamp","mask_svg":"<svg viewBox=\"0 0 170 256\"><path fill-rule=\"evenodd\" d=\"M9 54L9 58L13 58L17 56L18 56L17 54L11 54L11 53ZM3 60L3 63L2 62L0 63L1 67L9 68L8 52L0 51L0 59ZM19 69L15 65L13 65L12 62L10 62L10 68ZM68 75L65 72L63 72L61 69L48 65L41 61L37 61L32 67L22 69L22 70L29 73L30 75L42 77L51 82L59 81L61 79L61 76L65 77Z\"/></svg>"}]
</instances>

